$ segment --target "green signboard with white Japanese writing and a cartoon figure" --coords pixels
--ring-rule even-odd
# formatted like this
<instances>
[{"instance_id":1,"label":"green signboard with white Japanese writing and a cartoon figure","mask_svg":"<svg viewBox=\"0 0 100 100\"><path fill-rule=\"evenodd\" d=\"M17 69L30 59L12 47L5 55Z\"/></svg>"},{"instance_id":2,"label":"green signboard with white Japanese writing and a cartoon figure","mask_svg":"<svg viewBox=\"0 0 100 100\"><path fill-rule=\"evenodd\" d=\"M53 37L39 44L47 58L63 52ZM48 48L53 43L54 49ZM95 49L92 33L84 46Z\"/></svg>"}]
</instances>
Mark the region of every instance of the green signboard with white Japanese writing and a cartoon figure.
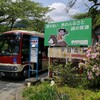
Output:
<instances>
[{"instance_id":1,"label":"green signboard with white Japanese writing and a cartoon figure","mask_svg":"<svg viewBox=\"0 0 100 100\"><path fill-rule=\"evenodd\" d=\"M45 25L45 46L91 46L91 18Z\"/></svg>"}]
</instances>

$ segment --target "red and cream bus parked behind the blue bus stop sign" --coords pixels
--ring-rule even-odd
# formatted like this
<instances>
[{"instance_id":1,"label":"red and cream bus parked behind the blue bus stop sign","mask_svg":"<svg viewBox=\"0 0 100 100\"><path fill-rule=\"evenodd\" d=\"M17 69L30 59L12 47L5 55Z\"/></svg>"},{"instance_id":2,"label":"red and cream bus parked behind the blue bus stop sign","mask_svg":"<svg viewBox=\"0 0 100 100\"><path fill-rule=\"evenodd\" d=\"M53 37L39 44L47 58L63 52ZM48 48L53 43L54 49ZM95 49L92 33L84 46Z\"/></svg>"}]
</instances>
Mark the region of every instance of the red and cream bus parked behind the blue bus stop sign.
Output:
<instances>
[{"instance_id":1,"label":"red and cream bus parked behind the blue bus stop sign","mask_svg":"<svg viewBox=\"0 0 100 100\"><path fill-rule=\"evenodd\" d=\"M26 78L29 66L36 70L36 62L29 64L31 36L38 37L38 71L47 70L48 49L44 46L44 34L36 31L12 30L0 34L0 76Z\"/></svg>"}]
</instances>

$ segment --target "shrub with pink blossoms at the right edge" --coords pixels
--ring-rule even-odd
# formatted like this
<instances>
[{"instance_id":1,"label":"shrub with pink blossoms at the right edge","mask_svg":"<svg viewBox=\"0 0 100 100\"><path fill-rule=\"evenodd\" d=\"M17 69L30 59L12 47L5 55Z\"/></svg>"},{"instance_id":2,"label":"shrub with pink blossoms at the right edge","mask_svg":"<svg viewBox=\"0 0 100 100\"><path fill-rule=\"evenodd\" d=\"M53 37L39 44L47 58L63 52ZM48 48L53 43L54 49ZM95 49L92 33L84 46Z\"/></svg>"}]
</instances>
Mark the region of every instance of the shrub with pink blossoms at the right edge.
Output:
<instances>
[{"instance_id":1,"label":"shrub with pink blossoms at the right edge","mask_svg":"<svg viewBox=\"0 0 100 100\"><path fill-rule=\"evenodd\" d=\"M91 86L100 84L100 44L89 47L86 51L87 59L84 64L84 74Z\"/></svg>"}]
</instances>

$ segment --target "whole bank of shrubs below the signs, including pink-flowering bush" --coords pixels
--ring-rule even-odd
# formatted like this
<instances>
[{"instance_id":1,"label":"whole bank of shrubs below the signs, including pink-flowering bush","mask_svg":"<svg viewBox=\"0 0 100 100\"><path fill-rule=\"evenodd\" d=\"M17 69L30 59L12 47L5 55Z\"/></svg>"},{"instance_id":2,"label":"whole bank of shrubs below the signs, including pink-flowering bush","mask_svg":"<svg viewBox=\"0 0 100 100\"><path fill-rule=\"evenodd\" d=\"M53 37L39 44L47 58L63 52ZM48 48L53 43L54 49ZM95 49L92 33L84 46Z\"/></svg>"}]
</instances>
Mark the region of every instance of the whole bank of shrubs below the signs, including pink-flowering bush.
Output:
<instances>
[{"instance_id":1,"label":"whole bank of shrubs below the signs, including pink-flowering bush","mask_svg":"<svg viewBox=\"0 0 100 100\"><path fill-rule=\"evenodd\" d=\"M54 79L58 85L100 89L100 44L96 43L93 47L89 47L86 56L85 62L77 66L79 74L75 73L71 62L67 62L65 66L60 64L54 67Z\"/></svg>"}]
</instances>

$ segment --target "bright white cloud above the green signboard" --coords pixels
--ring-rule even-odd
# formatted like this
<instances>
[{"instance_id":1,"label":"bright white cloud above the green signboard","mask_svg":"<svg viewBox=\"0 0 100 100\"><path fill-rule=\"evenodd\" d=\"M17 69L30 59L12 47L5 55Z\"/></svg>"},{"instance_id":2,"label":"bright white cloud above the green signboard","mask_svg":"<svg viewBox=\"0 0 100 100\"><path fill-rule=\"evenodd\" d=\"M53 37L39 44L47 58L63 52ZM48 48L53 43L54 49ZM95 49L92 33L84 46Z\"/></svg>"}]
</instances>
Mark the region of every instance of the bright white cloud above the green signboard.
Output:
<instances>
[{"instance_id":1,"label":"bright white cloud above the green signboard","mask_svg":"<svg viewBox=\"0 0 100 100\"><path fill-rule=\"evenodd\" d=\"M80 12L78 9L70 9L69 13L67 13L65 11L66 5L64 3L52 3L51 5L49 5L49 7L54 8L53 11L47 14L50 15L54 22L70 20L70 15Z\"/></svg>"}]
</instances>

